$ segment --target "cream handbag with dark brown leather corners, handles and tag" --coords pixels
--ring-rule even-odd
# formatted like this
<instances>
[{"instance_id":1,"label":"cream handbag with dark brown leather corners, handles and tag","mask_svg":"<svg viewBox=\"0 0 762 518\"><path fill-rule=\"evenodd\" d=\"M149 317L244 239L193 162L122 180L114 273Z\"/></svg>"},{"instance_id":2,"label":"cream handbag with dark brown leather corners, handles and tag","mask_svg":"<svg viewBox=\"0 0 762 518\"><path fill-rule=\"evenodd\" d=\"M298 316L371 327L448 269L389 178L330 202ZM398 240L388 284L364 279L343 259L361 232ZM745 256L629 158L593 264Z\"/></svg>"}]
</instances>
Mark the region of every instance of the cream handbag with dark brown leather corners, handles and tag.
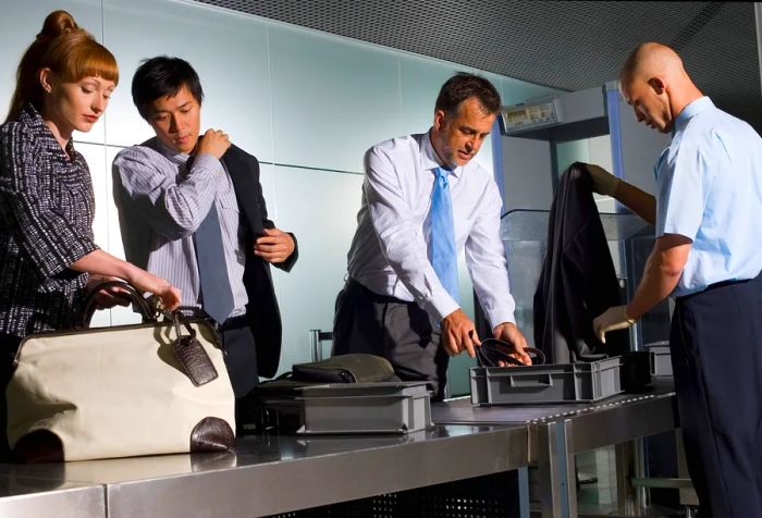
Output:
<instances>
[{"instance_id":1,"label":"cream handbag with dark brown leather corners, handles and tag","mask_svg":"<svg viewBox=\"0 0 762 518\"><path fill-rule=\"evenodd\" d=\"M158 323L132 286L118 284L147 323L40 333L21 343L5 392L9 443L20 460L231 447L235 398L214 330L176 311ZM93 308L90 299L86 322Z\"/></svg>"}]
</instances>

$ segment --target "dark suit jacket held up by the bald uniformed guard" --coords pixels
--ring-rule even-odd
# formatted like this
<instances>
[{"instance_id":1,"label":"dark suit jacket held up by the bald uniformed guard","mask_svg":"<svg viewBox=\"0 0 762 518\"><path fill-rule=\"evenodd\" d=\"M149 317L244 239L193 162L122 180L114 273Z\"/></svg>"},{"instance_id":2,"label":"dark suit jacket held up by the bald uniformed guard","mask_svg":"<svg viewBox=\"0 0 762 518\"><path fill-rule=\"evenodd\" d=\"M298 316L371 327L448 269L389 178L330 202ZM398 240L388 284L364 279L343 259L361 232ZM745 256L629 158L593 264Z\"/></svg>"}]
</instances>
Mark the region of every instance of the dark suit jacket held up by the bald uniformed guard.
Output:
<instances>
[{"instance_id":1,"label":"dark suit jacket held up by the bald uniformed guard","mask_svg":"<svg viewBox=\"0 0 762 518\"><path fill-rule=\"evenodd\" d=\"M601 344L592 320L622 304L592 180L579 163L561 176L551 206L548 251L534 292L534 346L549 363L569 363L595 354L620 355L629 334L616 331Z\"/></svg>"}]
</instances>

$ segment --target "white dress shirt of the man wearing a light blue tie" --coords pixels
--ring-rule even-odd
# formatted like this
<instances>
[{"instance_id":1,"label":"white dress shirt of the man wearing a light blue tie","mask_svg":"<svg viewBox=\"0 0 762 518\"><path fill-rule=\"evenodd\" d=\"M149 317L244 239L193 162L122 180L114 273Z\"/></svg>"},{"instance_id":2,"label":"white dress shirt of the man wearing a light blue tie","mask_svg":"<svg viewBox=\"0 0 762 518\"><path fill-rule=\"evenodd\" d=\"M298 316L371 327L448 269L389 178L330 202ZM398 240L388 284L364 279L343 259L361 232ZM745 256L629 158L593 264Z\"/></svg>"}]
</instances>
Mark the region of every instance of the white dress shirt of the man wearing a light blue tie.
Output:
<instances>
[{"instance_id":1,"label":"white dress shirt of the man wearing a light blue tie","mask_svg":"<svg viewBox=\"0 0 762 518\"><path fill-rule=\"evenodd\" d=\"M429 211L435 169L429 134L383 141L365 156L362 202L348 254L349 276L373 293L416 301L437 322L458 309L428 257ZM514 322L502 200L492 175L476 161L450 174L455 247L465 247L471 282L494 328Z\"/></svg>"}]
</instances>

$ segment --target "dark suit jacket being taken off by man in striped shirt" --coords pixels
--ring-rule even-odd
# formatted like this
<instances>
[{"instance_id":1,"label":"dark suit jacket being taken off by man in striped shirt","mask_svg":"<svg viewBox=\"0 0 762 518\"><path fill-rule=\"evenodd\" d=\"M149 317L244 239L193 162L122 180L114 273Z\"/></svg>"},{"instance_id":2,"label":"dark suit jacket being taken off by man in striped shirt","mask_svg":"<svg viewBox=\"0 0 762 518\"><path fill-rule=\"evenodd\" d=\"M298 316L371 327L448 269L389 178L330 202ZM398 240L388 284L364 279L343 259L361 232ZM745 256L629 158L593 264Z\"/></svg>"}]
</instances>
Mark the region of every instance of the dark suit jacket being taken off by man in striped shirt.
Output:
<instances>
[{"instance_id":1,"label":"dark suit jacket being taken off by man in striped shirt","mask_svg":"<svg viewBox=\"0 0 762 518\"><path fill-rule=\"evenodd\" d=\"M273 229L275 225L267 217L257 159L241 148L231 146L223 155L222 162L233 182L242 214L243 248L246 252L244 285L248 295L246 310L253 322L251 331L257 344L258 373L272 378L278 371L281 357L281 312L272 285L270 263L254 255L254 240L262 234L262 229ZM291 236L296 244L296 237L293 234ZM297 257L298 249L295 247L288 259L275 267L290 271Z\"/></svg>"}]
</instances>

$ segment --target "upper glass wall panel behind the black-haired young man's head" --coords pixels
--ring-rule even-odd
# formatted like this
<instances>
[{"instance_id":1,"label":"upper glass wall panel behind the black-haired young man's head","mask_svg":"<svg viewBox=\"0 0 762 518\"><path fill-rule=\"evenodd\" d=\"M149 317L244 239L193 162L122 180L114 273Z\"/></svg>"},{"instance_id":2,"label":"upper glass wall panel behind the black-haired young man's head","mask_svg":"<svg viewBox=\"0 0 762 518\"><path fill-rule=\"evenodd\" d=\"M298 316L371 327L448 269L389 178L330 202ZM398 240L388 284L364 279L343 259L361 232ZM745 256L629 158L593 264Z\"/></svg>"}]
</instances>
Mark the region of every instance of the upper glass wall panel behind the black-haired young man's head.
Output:
<instances>
[{"instance_id":1,"label":"upper glass wall panel behind the black-haired young man's head","mask_svg":"<svg viewBox=\"0 0 762 518\"><path fill-rule=\"evenodd\" d=\"M131 146L153 136L130 89L142 60L167 54L187 60L198 72L205 92L201 132L223 128L237 146L272 161L265 22L187 2L105 0L103 26L121 67L121 86L109 108L109 144Z\"/></svg>"}]
</instances>

